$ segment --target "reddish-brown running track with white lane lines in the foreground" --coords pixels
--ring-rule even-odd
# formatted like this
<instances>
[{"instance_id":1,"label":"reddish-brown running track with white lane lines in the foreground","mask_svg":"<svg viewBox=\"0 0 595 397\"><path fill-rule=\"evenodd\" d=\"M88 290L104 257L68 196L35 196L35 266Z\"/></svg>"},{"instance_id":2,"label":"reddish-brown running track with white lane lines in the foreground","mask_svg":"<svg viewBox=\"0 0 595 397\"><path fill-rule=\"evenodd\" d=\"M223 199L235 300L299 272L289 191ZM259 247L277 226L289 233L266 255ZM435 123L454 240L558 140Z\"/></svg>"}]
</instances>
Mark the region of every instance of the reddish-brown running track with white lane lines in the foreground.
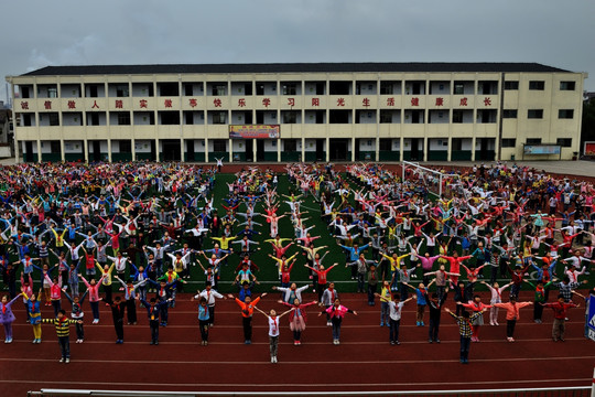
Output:
<instances>
[{"instance_id":1,"label":"reddish-brown running track with white lane lines in the foreground","mask_svg":"<svg viewBox=\"0 0 595 397\"><path fill-rule=\"evenodd\" d=\"M279 310L277 299L277 293L269 294L259 307ZM524 299L530 299L529 292L521 294ZM331 329L324 316L316 316L317 308L309 308L301 346L293 345L288 320L282 319L279 364L270 363L266 319L255 314L252 345L245 345L239 308L229 300L217 303L208 346L198 342L196 302L187 294L170 311L159 346L149 345L145 311L138 311L139 324L125 325L126 342L116 345L107 308L101 307L97 325L89 324L86 310L85 343L74 343L73 326L72 362L61 364L53 326L43 325L43 343L33 345L24 309L15 302L14 342L2 345L0 355L0 396L41 388L366 391L591 385L595 348L583 337L583 308L571 310L564 343L551 341L551 311L545 309L543 324L534 324L531 308L521 310L517 342L508 343L500 312L500 326L480 330L482 341L472 345L470 365L464 366L458 362L457 328L447 314L442 316L442 343L429 344L428 326L414 325L415 304L409 302L401 320L401 345L391 346L388 328L379 326L378 304L369 307L364 294L355 293L343 294L343 303L359 315L344 320L339 346L332 344ZM452 297L447 307L454 308ZM44 307L42 314L51 316L51 308Z\"/></svg>"}]
</instances>

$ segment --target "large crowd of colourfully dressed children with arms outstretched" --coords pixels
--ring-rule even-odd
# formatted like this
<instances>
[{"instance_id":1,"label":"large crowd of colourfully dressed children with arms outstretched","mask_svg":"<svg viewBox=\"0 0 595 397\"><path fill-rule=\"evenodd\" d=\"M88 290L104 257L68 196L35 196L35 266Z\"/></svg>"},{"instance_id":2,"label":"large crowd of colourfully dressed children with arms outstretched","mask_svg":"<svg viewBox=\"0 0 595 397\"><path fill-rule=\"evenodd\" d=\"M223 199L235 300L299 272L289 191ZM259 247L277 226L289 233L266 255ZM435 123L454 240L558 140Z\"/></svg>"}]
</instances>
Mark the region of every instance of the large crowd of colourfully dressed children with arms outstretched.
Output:
<instances>
[{"instance_id":1,"label":"large crowd of colourfully dressed children with arms outstretched","mask_svg":"<svg viewBox=\"0 0 595 397\"><path fill-rule=\"evenodd\" d=\"M68 362L69 324L83 343L87 299L93 324L100 320L100 304L110 308L117 343L123 343L125 322L138 322L140 304L147 310L151 344L159 344L159 329L167 325L169 310L175 308L176 292L194 265L204 271L204 278L194 281L204 281L205 288L193 298L199 301L202 343L208 344L216 300L235 299L246 344L251 343L253 311L267 316L272 363L278 361L279 319L289 314L294 344L300 345L306 308L315 304L332 326L333 343L340 343L343 319L357 312L340 303L329 282L339 262L350 267L368 304L379 298L380 326L389 328L393 345L400 343L401 310L410 300L416 301L418 326L425 325L428 308L428 341L440 343L441 311L452 293L456 310L444 310L458 324L462 363L468 362L469 342L479 341L485 311L497 325L498 309L506 310L507 340L513 342L519 310L533 304L533 320L540 323L549 307L556 342L564 341L567 310L577 307L573 296L585 298L575 290L587 283L595 259L595 191L583 181L498 164L459 172L456 182L444 186L448 196L432 197L429 187L436 181L425 171L409 169L401 179L376 164L349 165L342 173L332 164L299 163L286 168L288 195L277 192L284 175L248 168L227 183L223 203L214 203L213 189L221 183L216 175L215 169L177 163L2 168L0 266L9 291L0 303L4 342L12 342L11 305L22 300L33 343L41 342L42 323L54 324L61 361ZM313 202L320 210L306 205ZM217 211L219 205L224 211ZM284 217L293 230L279 227ZM322 233L337 239L345 260L325 261L328 251L323 250L328 247L317 244L321 233L311 233L321 219L328 226ZM263 229L264 223L268 233L261 236L257 228ZM289 308L281 314L262 312L258 303L266 293L256 298L251 291L260 282L256 271L264 264L255 264L250 256L264 245L278 268L279 287L273 289ZM309 285L298 288L292 282L300 251L307 259L315 301L302 298ZM237 298L218 292L221 266L230 255L239 258L237 276L225 281L238 285ZM299 265L304 265L301 259ZM112 297L116 283L119 293ZM476 293L478 283L488 288L489 304ZM517 301L523 283L534 290L531 302ZM509 299L504 299L507 288ZM559 293L550 302L552 289ZM589 293L595 294L593 289ZM71 302L71 319L63 298ZM43 304L52 307L53 316L42 320Z\"/></svg>"}]
</instances>

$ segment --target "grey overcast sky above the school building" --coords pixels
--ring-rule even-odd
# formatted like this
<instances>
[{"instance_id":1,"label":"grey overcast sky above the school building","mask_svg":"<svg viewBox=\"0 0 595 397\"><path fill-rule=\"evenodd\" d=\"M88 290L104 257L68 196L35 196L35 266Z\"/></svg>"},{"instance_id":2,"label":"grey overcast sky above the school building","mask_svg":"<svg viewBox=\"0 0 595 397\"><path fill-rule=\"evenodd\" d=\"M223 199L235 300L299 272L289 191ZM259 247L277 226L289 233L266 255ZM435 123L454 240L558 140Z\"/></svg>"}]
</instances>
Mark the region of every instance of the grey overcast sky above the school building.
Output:
<instances>
[{"instance_id":1,"label":"grey overcast sky above the school building","mask_svg":"<svg viewBox=\"0 0 595 397\"><path fill-rule=\"evenodd\" d=\"M47 65L538 62L587 72L595 90L592 0L28 0L1 10L1 76Z\"/></svg>"}]
</instances>

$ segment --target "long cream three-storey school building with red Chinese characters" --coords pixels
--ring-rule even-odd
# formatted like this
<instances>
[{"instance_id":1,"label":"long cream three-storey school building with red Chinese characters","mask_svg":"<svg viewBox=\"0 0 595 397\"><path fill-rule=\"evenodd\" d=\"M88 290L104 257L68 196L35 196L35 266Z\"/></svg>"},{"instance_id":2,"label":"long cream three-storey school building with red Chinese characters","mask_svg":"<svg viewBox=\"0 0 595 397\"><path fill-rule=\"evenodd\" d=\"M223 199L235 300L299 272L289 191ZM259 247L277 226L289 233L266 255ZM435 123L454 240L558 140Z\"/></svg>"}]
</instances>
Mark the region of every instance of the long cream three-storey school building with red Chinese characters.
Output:
<instances>
[{"instance_id":1,"label":"long cream three-storey school building with red Chinese characters","mask_svg":"<svg viewBox=\"0 0 595 397\"><path fill-rule=\"evenodd\" d=\"M584 78L328 63L47 66L7 82L20 161L489 161L578 152Z\"/></svg>"}]
</instances>

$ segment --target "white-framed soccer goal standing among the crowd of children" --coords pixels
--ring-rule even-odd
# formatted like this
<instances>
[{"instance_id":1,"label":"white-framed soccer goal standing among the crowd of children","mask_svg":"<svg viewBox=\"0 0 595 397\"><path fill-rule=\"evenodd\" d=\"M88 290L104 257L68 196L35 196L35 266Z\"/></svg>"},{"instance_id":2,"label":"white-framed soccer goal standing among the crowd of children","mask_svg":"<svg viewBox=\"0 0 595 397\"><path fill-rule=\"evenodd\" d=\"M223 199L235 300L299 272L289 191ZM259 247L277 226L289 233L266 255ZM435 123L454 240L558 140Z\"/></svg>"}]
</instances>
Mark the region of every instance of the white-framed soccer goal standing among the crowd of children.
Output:
<instances>
[{"instance_id":1,"label":"white-framed soccer goal standing among the crowd of children","mask_svg":"<svg viewBox=\"0 0 595 397\"><path fill-rule=\"evenodd\" d=\"M401 168L403 182L412 182L421 189L425 186L428 192L436 197L442 197L443 194L451 197L461 186L461 176L456 173L432 170L410 161L403 161Z\"/></svg>"}]
</instances>

